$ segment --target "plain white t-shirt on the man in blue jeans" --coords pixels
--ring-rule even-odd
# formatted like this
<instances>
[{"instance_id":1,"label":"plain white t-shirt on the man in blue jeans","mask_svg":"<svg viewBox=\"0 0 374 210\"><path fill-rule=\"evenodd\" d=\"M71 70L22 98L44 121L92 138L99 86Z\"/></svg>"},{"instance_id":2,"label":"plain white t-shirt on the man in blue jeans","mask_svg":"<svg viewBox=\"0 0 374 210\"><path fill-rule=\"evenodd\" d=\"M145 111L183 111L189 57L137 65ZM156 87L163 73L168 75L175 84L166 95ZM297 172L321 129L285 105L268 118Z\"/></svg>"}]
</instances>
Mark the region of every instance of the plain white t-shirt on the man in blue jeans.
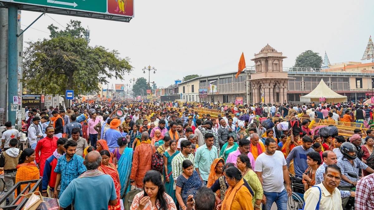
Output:
<instances>
[{"instance_id":1,"label":"plain white t-shirt on the man in blue jeans","mask_svg":"<svg viewBox=\"0 0 374 210\"><path fill-rule=\"evenodd\" d=\"M277 150L273 155L267 155L265 152L258 155L255 162L255 171L262 172L265 192L282 192L284 190L283 166L285 165L286 159L281 151Z\"/></svg>"}]
</instances>

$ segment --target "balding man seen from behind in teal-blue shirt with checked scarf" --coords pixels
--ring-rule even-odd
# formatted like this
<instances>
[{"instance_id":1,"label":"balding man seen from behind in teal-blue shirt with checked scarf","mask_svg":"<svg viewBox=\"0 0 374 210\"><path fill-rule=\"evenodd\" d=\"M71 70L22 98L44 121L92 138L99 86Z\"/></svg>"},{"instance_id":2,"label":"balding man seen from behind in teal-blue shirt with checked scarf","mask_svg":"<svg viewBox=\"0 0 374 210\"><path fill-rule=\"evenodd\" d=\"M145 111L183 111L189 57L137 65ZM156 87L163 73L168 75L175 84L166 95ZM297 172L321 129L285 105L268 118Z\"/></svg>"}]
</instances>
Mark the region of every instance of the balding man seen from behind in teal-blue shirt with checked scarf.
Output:
<instances>
[{"instance_id":1,"label":"balding man seen from behind in teal-blue shirt with checked scarf","mask_svg":"<svg viewBox=\"0 0 374 210\"><path fill-rule=\"evenodd\" d=\"M59 210L63 210L73 204L74 209L94 210L108 209L108 206L117 204L116 188L110 175L98 170L101 165L101 155L97 151L89 152L85 157L87 171L77 179L71 181L69 186L58 200ZM98 189L98 186L100 190ZM92 198L88 202L87 195Z\"/></svg>"}]
</instances>

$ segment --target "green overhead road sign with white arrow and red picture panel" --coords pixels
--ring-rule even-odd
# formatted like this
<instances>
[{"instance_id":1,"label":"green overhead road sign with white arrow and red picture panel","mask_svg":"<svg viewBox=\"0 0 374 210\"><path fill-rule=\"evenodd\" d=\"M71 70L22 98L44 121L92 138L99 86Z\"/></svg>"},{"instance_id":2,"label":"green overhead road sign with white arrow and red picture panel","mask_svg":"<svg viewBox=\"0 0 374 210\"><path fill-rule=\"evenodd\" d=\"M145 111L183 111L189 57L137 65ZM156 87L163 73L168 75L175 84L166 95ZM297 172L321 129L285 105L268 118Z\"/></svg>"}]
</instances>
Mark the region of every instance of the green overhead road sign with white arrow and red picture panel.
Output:
<instances>
[{"instance_id":1,"label":"green overhead road sign with white arrow and red picture panel","mask_svg":"<svg viewBox=\"0 0 374 210\"><path fill-rule=\"evenodd\" d=\"M129 22L134 17L134 0L0 0L18 4L20 9L87 18Z\"/></svg>"}]
</instances>

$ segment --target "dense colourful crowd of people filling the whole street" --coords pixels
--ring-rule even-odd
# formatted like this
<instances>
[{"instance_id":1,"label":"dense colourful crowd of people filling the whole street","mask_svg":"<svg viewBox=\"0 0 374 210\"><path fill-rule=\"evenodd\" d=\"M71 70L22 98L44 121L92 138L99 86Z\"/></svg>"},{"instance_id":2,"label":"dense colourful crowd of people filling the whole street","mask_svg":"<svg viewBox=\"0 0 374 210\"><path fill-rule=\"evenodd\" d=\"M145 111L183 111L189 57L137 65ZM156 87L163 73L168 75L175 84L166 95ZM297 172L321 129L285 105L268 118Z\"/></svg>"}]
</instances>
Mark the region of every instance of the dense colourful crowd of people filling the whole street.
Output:
<instances>
[{"instance_id":1,"label":"dense colourful crowd of people filling the whole street","mask_svg":"<svg viewBox=\"0 0 374 210\"><path fill-rule=\"evenodd\" d=\"M27 109L23 151L6 123L0 167L6 189L43 179L43 196L59 198L60 209L270 210L276 203L286 210L290 176L304 186L304 209L344 209L349 197L359 210L374 203L374 130L346 139L310 129L314 118L347 119L342 112L370 121L366 106L117 101L56 109ZM266 129L243 115L281 118ZM278 129L299 117L300 132Z\"/></svg>"}]
</instances>

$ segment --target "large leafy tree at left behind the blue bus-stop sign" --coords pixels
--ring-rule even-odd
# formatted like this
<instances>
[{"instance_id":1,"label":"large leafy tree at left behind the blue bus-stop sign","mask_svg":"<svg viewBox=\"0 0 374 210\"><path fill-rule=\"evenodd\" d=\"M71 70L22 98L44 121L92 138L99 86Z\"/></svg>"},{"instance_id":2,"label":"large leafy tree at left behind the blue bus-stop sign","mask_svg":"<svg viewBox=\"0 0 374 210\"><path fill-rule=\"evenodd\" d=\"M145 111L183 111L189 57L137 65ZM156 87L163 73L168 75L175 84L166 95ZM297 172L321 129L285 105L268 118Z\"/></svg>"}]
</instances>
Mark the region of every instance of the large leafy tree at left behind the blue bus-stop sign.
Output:
<instances>
[{"instance_id":1,"label":"large leafy tree at left behind the blue bus-stop sign","mask_svg":"<svg viewBox=\"0 0 374 210\"><path fill-rule=\"evenodd\" d=\"M84 30L79 21L70 21L64 31L53 25L48 28L51 39L28 42L24 51L22 81L30 92L60 95L68 106L66 90L74 90L74 95L98 92L99 83L122 80L132 71L129 58L120 58L117 50L89 46L81 38Z\"/></svg>"}]
</instances>

